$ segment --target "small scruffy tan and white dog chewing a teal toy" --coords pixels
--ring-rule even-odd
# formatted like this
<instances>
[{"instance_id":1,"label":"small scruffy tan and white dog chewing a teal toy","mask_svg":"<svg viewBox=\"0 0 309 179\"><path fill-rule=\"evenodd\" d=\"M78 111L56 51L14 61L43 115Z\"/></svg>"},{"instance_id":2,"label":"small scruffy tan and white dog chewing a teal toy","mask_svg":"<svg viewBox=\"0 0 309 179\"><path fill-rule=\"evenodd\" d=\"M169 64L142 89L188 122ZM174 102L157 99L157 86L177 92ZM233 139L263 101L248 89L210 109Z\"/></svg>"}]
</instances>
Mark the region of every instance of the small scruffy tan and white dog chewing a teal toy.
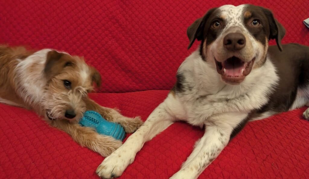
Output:
<instances>
[{"instance_id":1,"label":"small scruffy tan and white dog chewing a teal toy","mask_svg":"<svg viewBox=\"0 0 309 179\"><path fill-rule=\"evenodd\" d=\"M99 112L132 133L142 121L100 106L87 93L101 84L101 76L83 58L52 49L35 53L23 47L0 46L0 103L36 111L50 125L69 133L80 145L110 155L122 142L82 127L78 120L86 110Z\"/></svg>"}]
</instances>

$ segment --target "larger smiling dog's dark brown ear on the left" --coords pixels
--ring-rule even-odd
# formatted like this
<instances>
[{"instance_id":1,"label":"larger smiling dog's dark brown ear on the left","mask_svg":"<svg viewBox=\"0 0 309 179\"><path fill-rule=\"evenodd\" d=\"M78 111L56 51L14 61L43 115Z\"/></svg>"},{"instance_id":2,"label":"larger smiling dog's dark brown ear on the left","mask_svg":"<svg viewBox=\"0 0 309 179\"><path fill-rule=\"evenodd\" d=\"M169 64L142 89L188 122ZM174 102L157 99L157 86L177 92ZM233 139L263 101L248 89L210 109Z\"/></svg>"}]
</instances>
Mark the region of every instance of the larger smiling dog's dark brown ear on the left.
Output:
<instances>
[{"instance_id":1,"label":"larger smiling dog's dark brown ear on the left","mask_svg":"<svg viewBox=\"0 0 309 179\"><path fill-rule=\"evenodd\" d=\"M205 26L205 21L217 8L210 9L203 17L196 19L193 24L191 24L187 29L187 35L190 40L188 49L191 48L195 39L202 40L203 38L203 29Z\"/></svg>"}]
</instances>

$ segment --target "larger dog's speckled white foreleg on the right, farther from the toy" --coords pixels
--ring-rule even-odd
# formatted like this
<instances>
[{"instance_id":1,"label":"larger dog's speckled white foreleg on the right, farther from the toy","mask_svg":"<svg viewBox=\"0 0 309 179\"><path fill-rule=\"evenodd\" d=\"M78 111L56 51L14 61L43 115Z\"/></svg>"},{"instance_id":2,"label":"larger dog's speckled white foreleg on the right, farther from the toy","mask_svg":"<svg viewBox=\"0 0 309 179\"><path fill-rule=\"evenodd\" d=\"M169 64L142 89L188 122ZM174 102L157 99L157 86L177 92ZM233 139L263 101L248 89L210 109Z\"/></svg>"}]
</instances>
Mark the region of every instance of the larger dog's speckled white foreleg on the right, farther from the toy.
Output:
<instances>
[{"instance_id":1,"label":"larger dog's speckled white foreleg on the right, farther from the toy","mask_svg":"<svg viewBox=\"0 0 309 179\"><path fill-rule=\"evenodd\" d=\"M222 117L226 120L222 120ZM211 121L205 122L204 136L196 143L193 152L180 170L170 179L196 179L227 145L233 129L241 121L240 119L246 117L246 114L239 114L239 117L221 115L218 119L216 116L211 118Z\"/></svg>"}]
</instances>

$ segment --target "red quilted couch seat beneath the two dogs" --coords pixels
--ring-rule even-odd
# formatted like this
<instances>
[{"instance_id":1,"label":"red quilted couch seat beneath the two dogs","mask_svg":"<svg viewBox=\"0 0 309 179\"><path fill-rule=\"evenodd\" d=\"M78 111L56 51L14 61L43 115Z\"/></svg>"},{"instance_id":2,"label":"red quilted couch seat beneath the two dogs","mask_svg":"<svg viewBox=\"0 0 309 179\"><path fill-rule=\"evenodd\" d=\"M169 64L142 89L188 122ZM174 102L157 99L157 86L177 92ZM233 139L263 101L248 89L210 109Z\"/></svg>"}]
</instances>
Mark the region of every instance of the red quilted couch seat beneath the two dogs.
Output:
<instances>
[{"instance_id":1,"label":"red quilted couch seat beneath the two dogs","mask_svg":"<svg viewBox=\"0 0 309 179\"><path fill-rule=\"evenodd\" d=\"M107 107L143 120L168 91L93 93ZM199 177L297 179L309 176L309 122L305 108L250 122ZM0 178L99 178L104 159L49 127L35 113L0 104ZM180 169L203 130L177 122L147 142L120 179L168 178Z\"/></svg>"}]
</instances>

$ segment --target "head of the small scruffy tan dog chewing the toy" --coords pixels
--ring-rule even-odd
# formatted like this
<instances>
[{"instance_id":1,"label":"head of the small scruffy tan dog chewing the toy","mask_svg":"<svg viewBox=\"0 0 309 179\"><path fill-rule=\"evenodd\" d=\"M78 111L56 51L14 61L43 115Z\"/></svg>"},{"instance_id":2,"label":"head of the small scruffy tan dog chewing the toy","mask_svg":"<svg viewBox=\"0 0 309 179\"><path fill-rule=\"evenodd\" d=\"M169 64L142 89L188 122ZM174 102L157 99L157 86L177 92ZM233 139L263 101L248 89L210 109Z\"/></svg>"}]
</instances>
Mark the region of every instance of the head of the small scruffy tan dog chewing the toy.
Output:
<instances>
[{"instance_id":1,"label":"head of the small scruffy tan dog chewing the toy","mask_svg":"<svg viewBox=\"0 0 309 179\"><path fill-rule=\"evenodd\" d=\"M49 119L78 121L86 111L83 98L93 91L94 83L97 87L101 85L99 72L83 58L57 51L47 54L44 75L44 104Z\"/></svg>"}]
</instances>

